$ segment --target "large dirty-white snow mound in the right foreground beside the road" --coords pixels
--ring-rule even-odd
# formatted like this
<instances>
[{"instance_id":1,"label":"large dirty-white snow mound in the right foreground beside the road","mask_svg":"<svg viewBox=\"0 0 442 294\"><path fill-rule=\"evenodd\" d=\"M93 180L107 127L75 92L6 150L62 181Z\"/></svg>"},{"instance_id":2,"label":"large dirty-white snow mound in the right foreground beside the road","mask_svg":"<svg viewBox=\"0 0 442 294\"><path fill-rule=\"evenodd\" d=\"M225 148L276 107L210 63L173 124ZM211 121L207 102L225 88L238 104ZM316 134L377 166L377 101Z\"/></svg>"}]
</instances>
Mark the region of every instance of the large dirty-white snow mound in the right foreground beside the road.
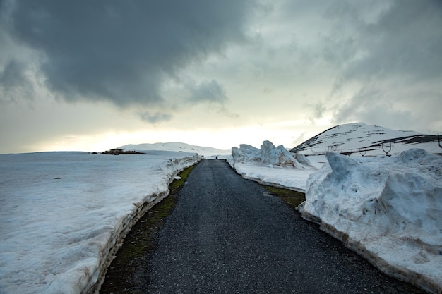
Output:
<instances>
[{"instance_id":1,"label":"large dirty-white snow mound in the right foreground beside the road","mask_svg":"<svg viewBox=\"0 0 442 294\"><path fill-rule=\"evenodd\" d=\"M298 209L386 274L442 293L442 157L327 153Z\"/></svg>"}]
</instances>

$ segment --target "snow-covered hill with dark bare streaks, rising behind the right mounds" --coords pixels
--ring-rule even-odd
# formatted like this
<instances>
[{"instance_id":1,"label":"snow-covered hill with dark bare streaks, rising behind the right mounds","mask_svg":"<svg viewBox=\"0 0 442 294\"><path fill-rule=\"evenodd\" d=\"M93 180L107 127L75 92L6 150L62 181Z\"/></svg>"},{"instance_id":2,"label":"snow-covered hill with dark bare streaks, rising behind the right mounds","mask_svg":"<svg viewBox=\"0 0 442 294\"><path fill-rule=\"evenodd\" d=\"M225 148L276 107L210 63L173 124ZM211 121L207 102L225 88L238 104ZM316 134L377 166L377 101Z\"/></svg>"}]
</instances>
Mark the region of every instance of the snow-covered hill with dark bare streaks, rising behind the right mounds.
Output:
<instances>
[{"instance_id":1,"label":"snow-covered hill with dark bare streaks, rising behind the right mounds","mask_svg":"<svg viewBox=\"0 0 442 294\"><path fill-rule=\"evenodd\" d=\"M429 153L441 153L436 135L425 135L414 131L390 130L379 125L348 123L325 130L294 147L290 152L305 155L323 154L328 151L342 154L379 155L390 154L411 148L422 148Z\"/></svg>"}]
</instances>

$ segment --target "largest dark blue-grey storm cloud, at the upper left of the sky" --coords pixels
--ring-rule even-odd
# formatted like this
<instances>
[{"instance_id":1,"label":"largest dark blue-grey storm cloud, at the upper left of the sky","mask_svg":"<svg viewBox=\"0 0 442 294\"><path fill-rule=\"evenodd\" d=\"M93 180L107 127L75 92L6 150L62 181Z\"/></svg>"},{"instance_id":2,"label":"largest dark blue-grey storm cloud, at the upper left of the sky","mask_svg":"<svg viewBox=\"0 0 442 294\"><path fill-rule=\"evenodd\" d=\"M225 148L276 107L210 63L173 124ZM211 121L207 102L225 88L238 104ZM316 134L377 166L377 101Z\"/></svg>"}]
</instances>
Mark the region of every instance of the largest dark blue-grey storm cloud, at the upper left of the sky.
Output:
<instances>
[{"instance_id":1,"label":"largest dark blue-grey storm cloud, at the upper left of the sky","mask_svg":"<svg viewBox=\"0 0 442 294\"><path fill-rule=\"evenodd\" d=\"M7 28L44 54L47 84L66 99L155 103L165 79L244 41L249 2L20 0Z\"/></svg>"}]
</instances>

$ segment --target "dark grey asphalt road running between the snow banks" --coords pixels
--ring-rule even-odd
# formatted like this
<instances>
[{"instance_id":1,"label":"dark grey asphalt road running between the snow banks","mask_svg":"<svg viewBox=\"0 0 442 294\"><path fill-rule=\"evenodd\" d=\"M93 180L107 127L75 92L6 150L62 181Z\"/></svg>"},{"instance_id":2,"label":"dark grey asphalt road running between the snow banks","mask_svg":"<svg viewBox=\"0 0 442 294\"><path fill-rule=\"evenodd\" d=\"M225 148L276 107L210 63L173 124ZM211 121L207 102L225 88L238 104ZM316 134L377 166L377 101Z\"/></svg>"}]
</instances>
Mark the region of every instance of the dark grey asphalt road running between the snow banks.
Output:
<instances>
[{"instance_id":1,"label":"dark grey asphalt road running between the snow banks","mask_svg":"<svg viewBox=\"0 0 442 294\"><path fill-rule=\"evenodd\" d=\"M419 293L301 219L225 161L203 160L143 267L144 293Z\"/></svg>"}]
</instances>

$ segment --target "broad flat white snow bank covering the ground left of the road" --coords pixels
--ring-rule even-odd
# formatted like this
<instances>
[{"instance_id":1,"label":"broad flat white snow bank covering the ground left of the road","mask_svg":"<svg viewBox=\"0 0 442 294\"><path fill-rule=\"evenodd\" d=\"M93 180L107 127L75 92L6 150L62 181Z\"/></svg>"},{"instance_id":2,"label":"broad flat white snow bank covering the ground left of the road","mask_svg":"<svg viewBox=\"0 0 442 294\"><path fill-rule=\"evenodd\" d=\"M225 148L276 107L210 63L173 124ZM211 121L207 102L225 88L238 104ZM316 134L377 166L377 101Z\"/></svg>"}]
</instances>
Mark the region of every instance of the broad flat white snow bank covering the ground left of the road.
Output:
<instances>
[{"instance_id":1,"label":"broad flat white snow bank covering the ground left of the road","mask_svg":"<svg viewBox=\"0 0 442 294\"><path fill-rule=\"evenodd\" d=\"M133 223L198 154L0 154L0 293L92 293Z\"/></svg>"}]
</instances>

